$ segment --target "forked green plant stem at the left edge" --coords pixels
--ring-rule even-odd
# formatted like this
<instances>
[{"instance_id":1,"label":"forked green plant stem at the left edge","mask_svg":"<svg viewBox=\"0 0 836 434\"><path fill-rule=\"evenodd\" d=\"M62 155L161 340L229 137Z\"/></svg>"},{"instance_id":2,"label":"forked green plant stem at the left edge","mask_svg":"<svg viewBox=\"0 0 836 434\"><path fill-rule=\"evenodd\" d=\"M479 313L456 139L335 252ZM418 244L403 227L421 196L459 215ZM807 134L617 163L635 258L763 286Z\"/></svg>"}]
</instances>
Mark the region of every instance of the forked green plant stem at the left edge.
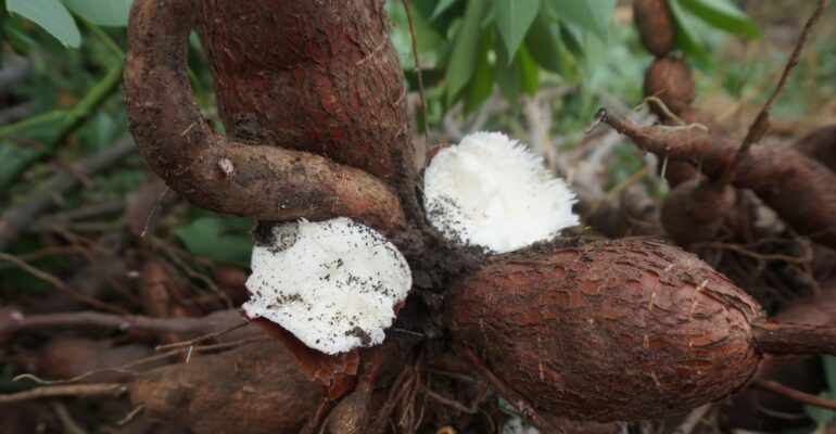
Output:
<instances>
[{"instance_id":1,"label":"forked green plant stem at the left edge","mask_svg":"<svg viewBox=\"0 0 836 434\"><path fill-rule=\"evenodd\" d=\"M35 116L16 124L0 128L0 137L10 132L15 132L36 125L46 124L51 120L61 119L55 137L43 148L23 157L17 165L12 167L5 176L0 179L0 191L5 191L9 187L23 175L26 169L35 163L54 153L64 141L64 138L73 132L81 124L90 112L110 97L116 89L122 79L123 65L112 68L92 89L79 101L73 108L66 112L51 112L45 115ZM45 119L46 118L46 119ZM23 125L22 125L23 124Z\"/></svg>"}]
</instances>

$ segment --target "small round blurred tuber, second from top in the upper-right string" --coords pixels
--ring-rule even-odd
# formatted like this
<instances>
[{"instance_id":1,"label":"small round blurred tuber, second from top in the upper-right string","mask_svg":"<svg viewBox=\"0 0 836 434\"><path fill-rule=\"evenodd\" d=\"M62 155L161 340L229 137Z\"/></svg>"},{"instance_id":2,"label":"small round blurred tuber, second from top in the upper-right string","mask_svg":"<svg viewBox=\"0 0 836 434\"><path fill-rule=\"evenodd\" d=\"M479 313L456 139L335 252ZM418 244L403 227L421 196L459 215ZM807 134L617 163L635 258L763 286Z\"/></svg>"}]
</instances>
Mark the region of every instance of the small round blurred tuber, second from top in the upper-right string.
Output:
<instances>
[{"instance_id":1,"label":"small round blurred tuber, second from top in the upper-right string","mask_svg":"<svg viewBox=\"0 0 836 434\"><path fill-rule=\"evenodd\" d=\"M694 101L694 78L691 69L680 59L657 59L645 73L645 95L657 97L673 114L684 112ZM654 112L662 116L663 113L650 104Z\"/></svg>"}]
</instances>

